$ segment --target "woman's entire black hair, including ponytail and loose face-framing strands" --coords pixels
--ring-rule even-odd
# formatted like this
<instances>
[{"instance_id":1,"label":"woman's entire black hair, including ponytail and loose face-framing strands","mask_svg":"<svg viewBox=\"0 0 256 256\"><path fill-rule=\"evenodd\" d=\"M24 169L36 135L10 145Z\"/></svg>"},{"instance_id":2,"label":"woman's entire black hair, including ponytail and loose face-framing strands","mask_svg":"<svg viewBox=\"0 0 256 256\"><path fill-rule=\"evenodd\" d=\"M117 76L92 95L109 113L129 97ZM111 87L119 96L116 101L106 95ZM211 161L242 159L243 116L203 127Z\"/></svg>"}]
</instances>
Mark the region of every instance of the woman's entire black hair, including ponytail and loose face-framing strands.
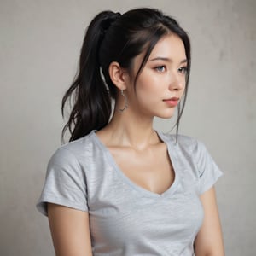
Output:
<instances>
[{"instance_id":1,"label":"woman's entire black hair, including ponytail and loose face-framing strands","mask_svg":"<svg viewBox=\"0 0 256 256\"><path fill-rule=\"evenodd\" d=\"M111 62L131 70L134 58L145 51L136 80L148 61L155 44L168 33L182 39L187 58L186 84L183 99L177 107L176 134L187 97L190 71L189 36L172 17L158 9L131 9L123 15L103 11L90 22L85 33L79 59L79 71L62 99L62 115L67 99L73 99L73 108L62 130L67 129L69 141L84 137L92 130L108 125L112 113L112 100L117 97L117 87L108 73Z\"/></svg>"}]
</instances>

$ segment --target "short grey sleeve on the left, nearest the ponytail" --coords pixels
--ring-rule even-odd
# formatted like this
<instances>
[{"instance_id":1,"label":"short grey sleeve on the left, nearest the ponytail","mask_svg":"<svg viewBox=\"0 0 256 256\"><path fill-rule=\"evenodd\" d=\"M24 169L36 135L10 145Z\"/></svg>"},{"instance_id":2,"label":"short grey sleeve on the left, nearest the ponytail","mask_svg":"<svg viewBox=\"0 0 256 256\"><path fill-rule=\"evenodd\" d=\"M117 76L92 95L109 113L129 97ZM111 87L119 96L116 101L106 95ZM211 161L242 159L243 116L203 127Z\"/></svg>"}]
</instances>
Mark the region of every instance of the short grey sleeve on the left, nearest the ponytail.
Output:
<instances>
[{"instance_id":1,"label":"short grey sleeve on the left, nearest the ponytail","mask_svg":"<svg viewBox=\"0 0 256 256\"><path fill-rule=\"evenodd\" d=\"M47 203L88 211L86 178L75 155L59 148L47 167L44 189L38 200L38 211L47 214Z\"/></svg>"}]
</instances>

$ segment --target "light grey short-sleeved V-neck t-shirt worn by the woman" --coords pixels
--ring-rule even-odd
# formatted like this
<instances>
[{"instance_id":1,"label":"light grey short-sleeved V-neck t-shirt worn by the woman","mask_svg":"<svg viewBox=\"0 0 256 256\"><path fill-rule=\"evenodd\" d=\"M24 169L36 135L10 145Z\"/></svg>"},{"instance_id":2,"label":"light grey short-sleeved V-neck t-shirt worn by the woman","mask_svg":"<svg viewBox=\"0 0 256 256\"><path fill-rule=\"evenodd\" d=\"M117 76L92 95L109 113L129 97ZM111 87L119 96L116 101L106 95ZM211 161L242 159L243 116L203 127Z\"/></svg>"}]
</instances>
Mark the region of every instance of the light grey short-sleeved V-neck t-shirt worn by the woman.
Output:
<instances>
[{"instance_id":1,"label":"light grey short-sleeved V-neck t-shirt worn by the woman","mask_svg":"<svg viewBox=\"0 0 256 256\"><path fill-rule=\"evenodd\" d=\"M47 202L89 212L94 256L192 256L204 218L200 195L222 175L192 137L158 132L175 179L161 195L125 176L95 131L59 148L49 160L38 210Z\"/></svg>"}]
</instances>

